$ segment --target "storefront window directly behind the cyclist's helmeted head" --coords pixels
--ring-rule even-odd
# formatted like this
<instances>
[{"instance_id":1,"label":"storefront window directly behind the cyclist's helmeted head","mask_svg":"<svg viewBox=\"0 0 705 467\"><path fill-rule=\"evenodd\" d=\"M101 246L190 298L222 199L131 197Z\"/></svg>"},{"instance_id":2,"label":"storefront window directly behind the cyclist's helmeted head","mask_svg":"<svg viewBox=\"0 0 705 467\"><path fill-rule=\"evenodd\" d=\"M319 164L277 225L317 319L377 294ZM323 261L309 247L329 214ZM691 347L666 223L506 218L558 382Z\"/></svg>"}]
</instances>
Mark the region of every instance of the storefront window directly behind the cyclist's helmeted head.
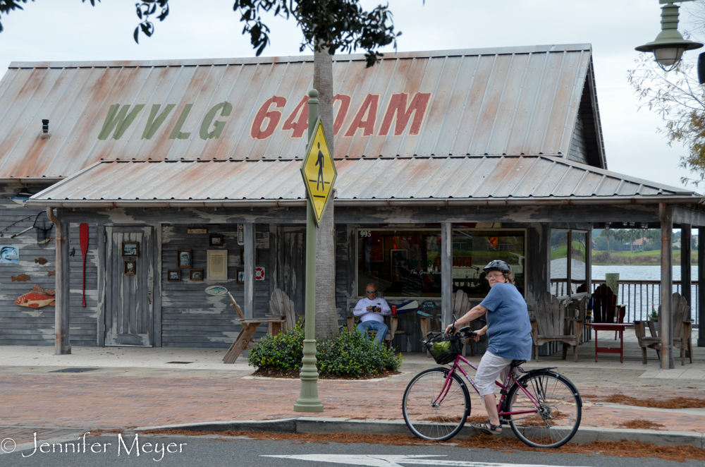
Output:
<instances>
[{"instance_id":1,"label":"storefront window directly behind the cyclist's helmeted head","mask_svg":"<svg viewBox=\"0 0 705 467\"><path fill-rule=\"evenodd\" d=\"M482 268L491 260L508 262L523 295L524 231L454 230L453 291L462 289L471 298L486 296L489 284Z\"/></svg>"}]
</instances>

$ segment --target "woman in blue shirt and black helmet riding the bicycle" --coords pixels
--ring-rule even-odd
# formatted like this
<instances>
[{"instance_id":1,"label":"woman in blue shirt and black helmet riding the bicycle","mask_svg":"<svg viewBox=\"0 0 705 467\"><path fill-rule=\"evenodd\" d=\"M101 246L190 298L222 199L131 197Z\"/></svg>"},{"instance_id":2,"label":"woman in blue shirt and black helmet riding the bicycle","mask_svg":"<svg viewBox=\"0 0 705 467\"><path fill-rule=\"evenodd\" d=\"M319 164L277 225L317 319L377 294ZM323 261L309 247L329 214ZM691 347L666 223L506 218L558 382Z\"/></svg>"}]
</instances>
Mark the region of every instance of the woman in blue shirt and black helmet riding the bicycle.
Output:
<instances>
[{"instance_id":1,"label":"woman in blue shirt and black helmet riding the bicycle","mask_svg":"<svg viewBox=\"0 0 705 467\"><path fill-rule=\"evenodd\" d=\"M489 419L470 425L491 435L499 435L502 426L497 413L494 382L500 376L500 381L506 380L512 360L531 360L531 323L524 297L514 285L512 268L504 261L494 260L484 267L484 271L489 281L489 293L479 305L453 325L448 325L446 334L453 327L459 329L461 325L487 315L487 325L476 331L475 340L487 334L489 344L477 367L475 384Z\"/></svg>"}]
</instances>

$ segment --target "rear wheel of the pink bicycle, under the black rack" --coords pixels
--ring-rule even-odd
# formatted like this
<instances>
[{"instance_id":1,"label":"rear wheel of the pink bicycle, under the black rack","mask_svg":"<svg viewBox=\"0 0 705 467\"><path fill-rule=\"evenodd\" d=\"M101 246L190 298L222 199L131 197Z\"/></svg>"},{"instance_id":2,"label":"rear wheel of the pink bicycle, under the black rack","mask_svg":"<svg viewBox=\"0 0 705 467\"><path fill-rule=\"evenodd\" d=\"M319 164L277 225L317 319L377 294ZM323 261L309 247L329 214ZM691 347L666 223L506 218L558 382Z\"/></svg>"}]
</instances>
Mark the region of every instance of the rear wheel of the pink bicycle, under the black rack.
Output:
<instances>
[{"instance_id":1,"label":"rear wheel of the pink bicycle, under the black rack","mask_svg":"<svg viewBox=\"0 0 705 467\"><path fill-rule=\"evenodd\" d=\"M518 383L509 390L506 404L509 412L516 412L506 418L517 438L531 447L567 443L577 432L582 416L582 400L572 382L556 372L539 371L520 378Z\"/></svg>"}]
</instances>

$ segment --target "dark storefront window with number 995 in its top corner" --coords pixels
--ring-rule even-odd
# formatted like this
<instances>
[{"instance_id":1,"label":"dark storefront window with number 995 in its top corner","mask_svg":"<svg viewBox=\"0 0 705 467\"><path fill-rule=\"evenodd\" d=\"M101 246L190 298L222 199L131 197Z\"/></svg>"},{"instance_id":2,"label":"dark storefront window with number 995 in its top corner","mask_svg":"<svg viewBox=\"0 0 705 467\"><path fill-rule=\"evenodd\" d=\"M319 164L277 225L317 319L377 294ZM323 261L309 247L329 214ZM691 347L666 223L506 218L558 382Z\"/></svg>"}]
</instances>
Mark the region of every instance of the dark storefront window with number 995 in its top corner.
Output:
<instances>
[{"instance_id":1,"label":"dark storefront window with number 995 in its top corner","mask_svg":"<svg viewBox=\"0 0 705 467\"><path fill-rule=\"evenodd\" d=\"M374 282L386 297L441 296L440 230L358 230L357 294Z\"/></svg>"}]
</instances>

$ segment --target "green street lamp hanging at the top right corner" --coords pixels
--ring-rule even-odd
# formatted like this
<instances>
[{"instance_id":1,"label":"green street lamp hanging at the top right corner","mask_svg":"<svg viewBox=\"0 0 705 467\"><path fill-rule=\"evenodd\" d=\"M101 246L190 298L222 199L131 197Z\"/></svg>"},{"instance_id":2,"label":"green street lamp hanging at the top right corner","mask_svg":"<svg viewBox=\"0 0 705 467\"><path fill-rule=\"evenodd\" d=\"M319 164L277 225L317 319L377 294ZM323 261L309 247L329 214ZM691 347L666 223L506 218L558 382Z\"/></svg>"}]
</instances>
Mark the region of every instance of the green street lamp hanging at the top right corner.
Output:
<instances>
[{"instance_id":1,"label":"green street lamp hanging at the top right corner","mask_svg":"<svg viewBox=\"0 0 705 467\"><path fill-rule=\"evenodd\" d=\"M654 42L640 45L636 49L640 52L654 52L656 63L663 71L671 71L680 61L683 52L686 50L699 49L703 44L683 39L678 32L678 8L674 1L693 0L658 0L660 4L666 4L661 8L661 32L656 36Z\"/></svg>"}]
</instances>

